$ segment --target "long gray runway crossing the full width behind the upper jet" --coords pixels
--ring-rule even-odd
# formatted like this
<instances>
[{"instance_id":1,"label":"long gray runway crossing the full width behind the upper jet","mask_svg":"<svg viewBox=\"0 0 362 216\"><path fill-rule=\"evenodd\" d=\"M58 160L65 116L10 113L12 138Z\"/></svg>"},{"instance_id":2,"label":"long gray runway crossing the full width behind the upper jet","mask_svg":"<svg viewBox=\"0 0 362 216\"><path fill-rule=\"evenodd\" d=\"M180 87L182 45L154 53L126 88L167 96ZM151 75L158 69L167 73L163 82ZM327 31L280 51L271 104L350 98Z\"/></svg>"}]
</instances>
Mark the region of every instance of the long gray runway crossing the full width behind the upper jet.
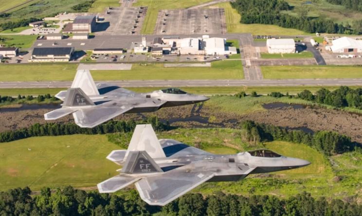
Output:
<instances>
[{"instance_id":1,"label":"long gray runway crossing the full width behind the upper jet","mask_svg":"<svg viewBox=\"0 0 362 216\"><path fill-rule=\"evenodd\" d=\"M206 86L339 86L362 85L362 79L221 79L221 80L112 80L105 81L123 87L206 87ZM67 88L71 81L0 82L0 88Z\"/></svg>"}]
</instances>

